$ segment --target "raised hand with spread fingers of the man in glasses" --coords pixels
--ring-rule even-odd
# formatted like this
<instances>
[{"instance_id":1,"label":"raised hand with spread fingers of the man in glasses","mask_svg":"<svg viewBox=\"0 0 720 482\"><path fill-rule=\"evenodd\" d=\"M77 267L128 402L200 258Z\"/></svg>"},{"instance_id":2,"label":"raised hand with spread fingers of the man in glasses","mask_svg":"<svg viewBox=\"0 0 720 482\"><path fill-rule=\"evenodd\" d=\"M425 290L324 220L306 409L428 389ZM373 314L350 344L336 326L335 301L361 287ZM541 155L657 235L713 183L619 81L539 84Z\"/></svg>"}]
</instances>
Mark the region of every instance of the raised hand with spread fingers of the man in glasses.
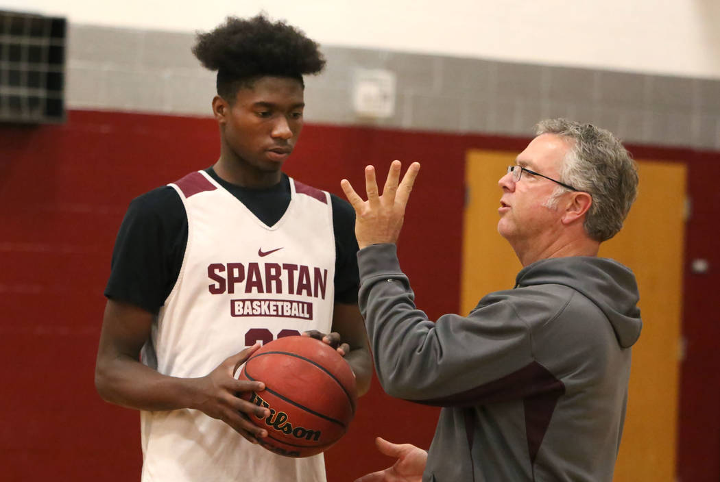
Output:
<instances>
[{"instance_id":1,"label":"raised hand with spread fingers of the man in glasses","mask_svg":"<svg viewBox=\"0 0 720 482\"><path fill-rule=\"evenodd\" d=\"M346 198L355 209L355 236L360 249L377 243L397 242L402 220L405 217L405 206L410 199L415 178L418 177L420 163L410 164L405 176L402 176L402 182L398 184L401 167L399 160L392 161L382 195L379 195L375 168L372 165L367 166L365 168L367 201L363 201L355 192L350 181L343 179L340 182Z\"/></svg>"}]
</instances>

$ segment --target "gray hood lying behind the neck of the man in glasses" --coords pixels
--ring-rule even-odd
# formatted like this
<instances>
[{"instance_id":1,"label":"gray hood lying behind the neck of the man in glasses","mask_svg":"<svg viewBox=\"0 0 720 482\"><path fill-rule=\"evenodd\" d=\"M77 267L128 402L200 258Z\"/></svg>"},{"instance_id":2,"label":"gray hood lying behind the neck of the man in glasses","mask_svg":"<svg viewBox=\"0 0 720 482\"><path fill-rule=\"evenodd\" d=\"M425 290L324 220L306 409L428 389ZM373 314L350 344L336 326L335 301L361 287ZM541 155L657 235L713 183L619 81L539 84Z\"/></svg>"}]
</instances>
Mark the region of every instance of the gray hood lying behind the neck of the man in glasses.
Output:
<instances>
[{"instance_id":1,"label":"gray hood lying behind the neck of the man in glasses","mask_svg":"<svg viewBox=\"0 0 720 482\"><path fill-rule=\"evenodd\" d=\"M516 288L541 284L567 286L593 301L608 317L621 347L631 347L640 336L635 275L617 261L590 256L549 258L527 265L516 278Z\"/></svg>"}]
</instances>

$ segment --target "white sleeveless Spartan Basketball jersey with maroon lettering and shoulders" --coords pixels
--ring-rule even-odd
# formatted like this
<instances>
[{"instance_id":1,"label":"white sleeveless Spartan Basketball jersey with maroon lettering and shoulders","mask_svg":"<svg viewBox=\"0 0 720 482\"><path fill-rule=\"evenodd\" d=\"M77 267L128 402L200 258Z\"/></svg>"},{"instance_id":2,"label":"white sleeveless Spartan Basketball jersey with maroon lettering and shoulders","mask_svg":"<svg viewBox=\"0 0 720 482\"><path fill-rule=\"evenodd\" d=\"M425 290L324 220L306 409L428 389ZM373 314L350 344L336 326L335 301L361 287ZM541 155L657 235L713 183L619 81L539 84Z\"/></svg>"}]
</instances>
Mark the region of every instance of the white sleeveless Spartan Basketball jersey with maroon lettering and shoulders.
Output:
<instances>
[{"instance_id":1,"label":"white sleeveless Spartan Basketball jersey with maroon lettering and shoulders","mask_svg":"<svg viewBox=\"0 0 720 482\"><path fill-rule=\"evenodd\" d=\"M267 226L204 171L170 186L184 203L188 240L143 363L201 377L256 340L330 332L336 251L328 193L290 179L287 211ZM201 411L143 411L141 423L143 482L325 481L323 455L275 455Z\"/></svg>"}]
</instances>

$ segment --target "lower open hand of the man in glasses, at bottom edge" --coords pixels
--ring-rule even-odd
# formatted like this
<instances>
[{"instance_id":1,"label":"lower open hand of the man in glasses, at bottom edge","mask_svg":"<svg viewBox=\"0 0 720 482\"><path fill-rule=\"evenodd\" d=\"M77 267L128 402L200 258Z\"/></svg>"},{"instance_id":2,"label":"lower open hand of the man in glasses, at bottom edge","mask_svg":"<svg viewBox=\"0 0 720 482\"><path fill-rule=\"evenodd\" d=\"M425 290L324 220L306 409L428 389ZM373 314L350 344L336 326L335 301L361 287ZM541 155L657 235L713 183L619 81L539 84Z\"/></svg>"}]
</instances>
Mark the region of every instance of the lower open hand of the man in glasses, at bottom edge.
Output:
<instances>
[{"instance_id":1,"label":"lower open hand of the man in glasses, at bottom edge","mask_svg":"<svg viewBox=\"0 0 720 482\"><path fill-rule=\"evenodd\" d=\"M355 482L421 482L428 453L415 445L394 444L380 437L375 439L380 453L397 458L392 467L369 473Z\"/></svg>"}]
</instances>

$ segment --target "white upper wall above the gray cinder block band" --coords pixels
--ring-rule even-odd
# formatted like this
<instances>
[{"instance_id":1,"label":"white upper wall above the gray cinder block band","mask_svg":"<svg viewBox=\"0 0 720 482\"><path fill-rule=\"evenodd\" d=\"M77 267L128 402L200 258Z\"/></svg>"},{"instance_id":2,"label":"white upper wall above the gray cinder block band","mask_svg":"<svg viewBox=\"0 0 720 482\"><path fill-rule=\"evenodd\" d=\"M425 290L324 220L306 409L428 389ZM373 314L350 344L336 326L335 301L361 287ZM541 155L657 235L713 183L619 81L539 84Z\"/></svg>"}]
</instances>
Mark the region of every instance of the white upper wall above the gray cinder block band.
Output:
<instances>
[{"instance_id":1,"label":"white upper wall above the gray cinder block band","mask_svg":"<svg viewBox=\"0 0 720 482\"><path fill-rule=\"evenodd\" d=\"M720 0L0 0L0 9L179 32L264 10L325 45L720 78Z\"/></svg>"}]
</instances>

